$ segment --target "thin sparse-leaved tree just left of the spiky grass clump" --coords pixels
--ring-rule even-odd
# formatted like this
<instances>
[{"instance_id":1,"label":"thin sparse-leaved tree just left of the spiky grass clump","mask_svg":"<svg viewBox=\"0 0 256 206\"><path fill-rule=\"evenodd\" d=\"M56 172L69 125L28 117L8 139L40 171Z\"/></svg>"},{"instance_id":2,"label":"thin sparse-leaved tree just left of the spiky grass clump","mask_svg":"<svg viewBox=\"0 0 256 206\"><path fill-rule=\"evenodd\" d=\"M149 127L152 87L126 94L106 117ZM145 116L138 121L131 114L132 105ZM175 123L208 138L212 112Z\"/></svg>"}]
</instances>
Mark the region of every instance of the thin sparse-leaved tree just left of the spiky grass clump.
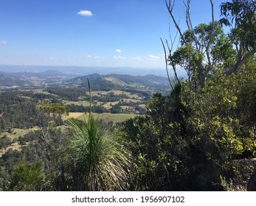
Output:
<instances>
[{"instance_id":1,"label":"thin sparse-leaved tree just left of the spiky grass clump","mask_svg":"<svg viewBox=\"0 0 256 206\"><path fill-rule=\"evenodd\" d=\"M40 130L35 133L32 146L35 149L35 154L44 163L45 171L49 172L58 163L55 152L63 148L65 144L63 129L57 128L57 126L62 124L61 116L67 114L67 110L59 103L41 100L37 105L37 113Z\"/></svg>"}]
</instances>

